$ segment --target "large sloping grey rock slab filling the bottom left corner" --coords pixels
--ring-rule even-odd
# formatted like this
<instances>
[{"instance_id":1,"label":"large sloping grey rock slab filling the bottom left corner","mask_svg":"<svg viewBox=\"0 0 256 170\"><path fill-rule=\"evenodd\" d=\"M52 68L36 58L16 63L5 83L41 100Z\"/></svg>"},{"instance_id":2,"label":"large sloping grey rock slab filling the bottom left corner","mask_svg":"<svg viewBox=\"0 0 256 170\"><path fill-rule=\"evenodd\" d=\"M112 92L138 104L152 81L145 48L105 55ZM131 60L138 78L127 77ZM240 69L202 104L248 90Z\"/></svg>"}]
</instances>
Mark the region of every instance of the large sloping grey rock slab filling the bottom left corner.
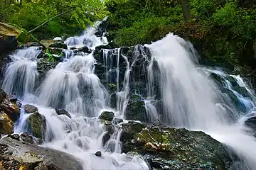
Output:
<instances>
[{"instance_id":1,"label":"large sloping grey rock slab filling the bottom left corner","mask_svg":"<svg viewBox=\"0 0 256 170\"><path fill-rule=\"evenodd\" d=\"M70 154L4 137L0 140L0 169L82 170Z\"/></svg>"}]
</instances>

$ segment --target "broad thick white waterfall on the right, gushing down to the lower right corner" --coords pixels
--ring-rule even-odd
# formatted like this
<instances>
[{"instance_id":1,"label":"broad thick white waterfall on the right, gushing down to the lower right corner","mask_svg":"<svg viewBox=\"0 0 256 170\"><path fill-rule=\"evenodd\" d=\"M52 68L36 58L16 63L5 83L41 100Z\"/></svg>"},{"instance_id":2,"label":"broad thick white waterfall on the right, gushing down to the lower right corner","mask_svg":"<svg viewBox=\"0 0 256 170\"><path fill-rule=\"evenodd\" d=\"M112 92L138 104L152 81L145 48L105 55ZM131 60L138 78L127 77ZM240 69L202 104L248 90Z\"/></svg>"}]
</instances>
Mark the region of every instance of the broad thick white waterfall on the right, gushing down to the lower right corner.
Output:
<instances>
[{"instance_id":1,"label":"broad thick white waterfall on the right, gushing down to the lower right corner","mask_svg":"<svg viewBox=\"0 0 256 170\"><path fill-rule=\"evenodd\" d=\"M234 169L255 169L255 138L245 131L247 128L242 123L238 123L243 116L240 111L233 107L233 103L226 101L215 82L196 67L196 52L191 44L170 33L146 47L151 50L160 71L159 79L152 79L153 76L149 75L149 84L154 83L150 81L159 81L164 123L176 128L203 130L238 154L241 163L240 166L234 165ZM154 72L150 70L152 68L149 67L149 73ZM230 81L224 81L225 88L231 90L240 103L246 103L247 113L250 113L254 106L252 99L248 104L248 98L234 91ZM235 77L235 81L245 87L239 77ZM154 91L151 95L154 95ZM230 106L233 118L226 109L220 109L219 104L223 101ZM235 123L233 119L236 119Z\"/></svg>"}]
</instances>

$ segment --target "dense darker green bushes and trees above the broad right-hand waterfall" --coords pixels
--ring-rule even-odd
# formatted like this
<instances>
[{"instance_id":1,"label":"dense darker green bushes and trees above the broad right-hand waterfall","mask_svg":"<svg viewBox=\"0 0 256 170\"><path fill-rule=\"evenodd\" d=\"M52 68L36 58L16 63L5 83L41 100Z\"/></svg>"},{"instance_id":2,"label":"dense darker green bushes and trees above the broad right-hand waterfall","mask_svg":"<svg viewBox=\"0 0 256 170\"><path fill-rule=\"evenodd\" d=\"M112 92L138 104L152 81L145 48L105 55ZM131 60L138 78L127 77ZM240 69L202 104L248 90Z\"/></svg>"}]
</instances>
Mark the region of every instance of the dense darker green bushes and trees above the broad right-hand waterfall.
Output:
<instances>
[{"instance_id":1,"label":"dense darker green bushes and trees above the broad right-hand waterfall","mask_svg":"<svg viewBox=\"0 0 256 170\"><path fill-rule=\"evenodd\" d=\"M256 67L253 0L110 0L106 6L117 45L149 43L173 32L193 42L210 64Z\"/></svg>"}]
</instances>

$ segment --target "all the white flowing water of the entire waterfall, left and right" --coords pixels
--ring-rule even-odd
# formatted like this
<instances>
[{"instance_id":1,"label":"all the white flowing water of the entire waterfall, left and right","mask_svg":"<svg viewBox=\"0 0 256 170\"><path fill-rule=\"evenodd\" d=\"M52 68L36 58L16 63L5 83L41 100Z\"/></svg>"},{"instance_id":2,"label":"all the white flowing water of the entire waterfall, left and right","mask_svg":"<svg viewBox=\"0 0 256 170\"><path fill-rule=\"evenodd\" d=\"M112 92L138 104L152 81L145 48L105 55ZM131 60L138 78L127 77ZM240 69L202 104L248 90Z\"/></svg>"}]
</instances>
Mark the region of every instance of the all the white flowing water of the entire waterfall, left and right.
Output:
<instances>
[{"instance_id":1,"label":"all the white flowing water of the entire waterfall, left and right","mask_svg":"<svg viewBox=\"0 0 256 170\"><path fill-rule=\"evenodd\" d=\"M108 104L107 87L95 74L97 60L93 55L95 47L107 44L107 38L94 33L95 29L89 28L80 37L68 38L65 60L47 72L38 88L37 56L41 50L37 47L18 50L11 55L3 88L8 94L16 94L23 103L33 103L46 117L43 147L73 154L82 161L84 169L149 169L140 157L122 154L121 130L114 129L110 140L102 144L107 132L97 117L102 111L114 108ZM70 50L84 45L90 47L91 54L75 55ZM146 96L142 97L149 123L159 119L172 127L203 130L238 154L241 162L234 169L254 169L256 142L247 133L250 129L244 126L244 121L255 108L255 97L245 81L220 69L199 67L193 46L178 36L169 34L145 47L149 48L151 57L144 52L144 46L137 45L133 62L120 49L103 50L104 82L117 85L115 116L125 118L131 72L142 55L149 62L143 68L147 82ZM125 64L124 71L120 69L121 61ZM220 81L213 81L213 75ZM156 91L156 85L160 91ZM233 102L234 98L237 103ZM156 107L158 101L161 111ZM53 108L65 108L72 118L57 115ZM28 117L22 109L15 132L27 130ZM102 157L95 156L97 151L102 151Z\"/></svg>"}]
</instances>

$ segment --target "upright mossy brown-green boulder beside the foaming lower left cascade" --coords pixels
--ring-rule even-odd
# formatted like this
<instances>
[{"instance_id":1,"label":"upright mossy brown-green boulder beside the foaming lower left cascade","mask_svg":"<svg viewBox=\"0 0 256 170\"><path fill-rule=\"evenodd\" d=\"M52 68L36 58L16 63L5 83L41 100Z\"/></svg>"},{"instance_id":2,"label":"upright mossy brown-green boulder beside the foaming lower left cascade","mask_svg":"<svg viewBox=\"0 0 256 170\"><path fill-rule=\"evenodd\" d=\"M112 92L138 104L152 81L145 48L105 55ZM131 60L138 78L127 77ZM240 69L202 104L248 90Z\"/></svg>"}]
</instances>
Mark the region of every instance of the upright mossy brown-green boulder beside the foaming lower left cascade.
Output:
<instances>
[{"instance_id":1,"label":"upright mossy brown-green boulder beside the foaming lower left cascade","mask_svg":"<svg viewBox=\"0 0 256 170\"><path fill-rule=\"evenodd\" d=\"M28 118L28 129L34 137L44 139L46 134L46 118L38 112L33 113Z\"/></svg>"}]
</instances>

